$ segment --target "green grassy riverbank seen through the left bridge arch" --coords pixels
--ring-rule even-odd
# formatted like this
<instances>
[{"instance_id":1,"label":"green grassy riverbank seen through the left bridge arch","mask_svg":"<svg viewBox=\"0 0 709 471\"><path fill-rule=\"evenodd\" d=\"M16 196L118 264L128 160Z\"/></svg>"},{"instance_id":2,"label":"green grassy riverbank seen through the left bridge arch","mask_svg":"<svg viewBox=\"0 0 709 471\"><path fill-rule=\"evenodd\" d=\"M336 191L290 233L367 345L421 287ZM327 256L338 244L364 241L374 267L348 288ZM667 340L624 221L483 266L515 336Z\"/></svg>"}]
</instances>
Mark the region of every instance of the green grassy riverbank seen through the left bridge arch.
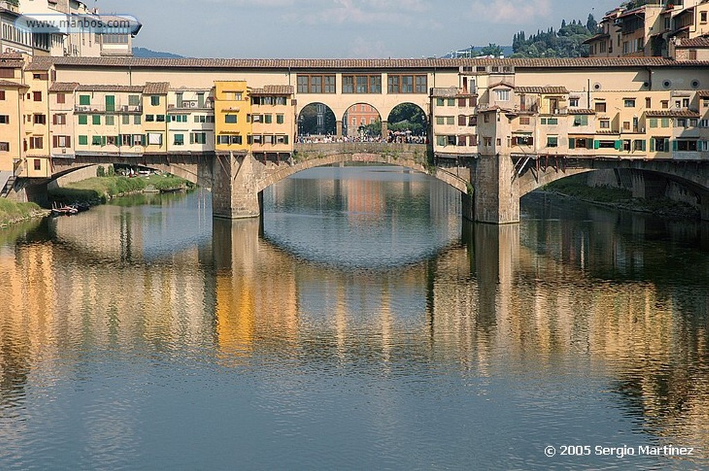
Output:
<instances>
[{"instance_id":1,"label":"green grassy riverbank seen through the left bridge arch","mask_svg":"<svg viewBox=\"0 0 709 471\"><path fill-rule=\"evenodd\" d=\"M173 175L152 174L147 177L93 177L81 182L67 184L66 187L52 189L49 197L52 201L64 204L89 202L91 204L105 203L116 196L141 192L172 192L187 189L191 184L185 179Z\"/></svg>"}]
</instances>

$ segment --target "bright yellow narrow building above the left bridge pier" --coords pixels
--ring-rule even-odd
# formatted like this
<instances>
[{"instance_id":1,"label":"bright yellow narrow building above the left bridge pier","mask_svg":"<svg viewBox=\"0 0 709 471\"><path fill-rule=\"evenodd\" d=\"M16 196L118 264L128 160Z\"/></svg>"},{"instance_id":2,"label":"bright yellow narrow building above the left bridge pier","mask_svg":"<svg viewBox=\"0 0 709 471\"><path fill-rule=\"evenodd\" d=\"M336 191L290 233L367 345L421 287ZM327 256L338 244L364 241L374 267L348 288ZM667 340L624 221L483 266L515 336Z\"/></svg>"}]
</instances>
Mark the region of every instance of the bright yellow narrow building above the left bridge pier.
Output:
<instances>
[{"instance_id":1,"label":"bright yellow narrow building above the left bridge pier","mask_svg":"<svg viewBox=\"0 0 709 471\"><path fill-rule=\"evenodd\" d=\"M245 80L214 82L214 133L217 152L247 152L251 99Z\"/></svg>"}]
</instances>

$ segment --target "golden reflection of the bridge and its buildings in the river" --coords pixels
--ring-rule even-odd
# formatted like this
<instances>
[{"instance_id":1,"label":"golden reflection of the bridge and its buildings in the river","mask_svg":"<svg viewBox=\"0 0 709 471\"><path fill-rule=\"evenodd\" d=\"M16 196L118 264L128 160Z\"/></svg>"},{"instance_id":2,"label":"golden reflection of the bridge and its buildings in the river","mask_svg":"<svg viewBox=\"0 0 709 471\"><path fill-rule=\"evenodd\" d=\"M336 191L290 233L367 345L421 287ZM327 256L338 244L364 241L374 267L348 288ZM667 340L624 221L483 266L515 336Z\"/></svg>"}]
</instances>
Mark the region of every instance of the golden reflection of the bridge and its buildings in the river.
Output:
<instances>
[{"instance_id":1,"label":"golden reflection of the bridge and its buildings in the river","mask_svg":"<svg viewBox=\"0 0 709 471\"><path fill-rule=\"evenodd\" d=\"M348 210L391 204L370 190L367 200L347 189ZM146 233L172 232L155 214L106 206L27 228L0 248L0 411L23 406L38 368L96 349L204 350L225 367L274 355L372 374L566 365L608 377L663 443L709 450L709 260L663 240L696 245L705 228L670 224L659 237L644 216L540 207L521 225L465 224L438 255L374 272L295 257L257 220L202 226L211 243L198 234L169 257L144 248ZM74 375L75 361L55 372Z\"/></svg>"}]
</instances>

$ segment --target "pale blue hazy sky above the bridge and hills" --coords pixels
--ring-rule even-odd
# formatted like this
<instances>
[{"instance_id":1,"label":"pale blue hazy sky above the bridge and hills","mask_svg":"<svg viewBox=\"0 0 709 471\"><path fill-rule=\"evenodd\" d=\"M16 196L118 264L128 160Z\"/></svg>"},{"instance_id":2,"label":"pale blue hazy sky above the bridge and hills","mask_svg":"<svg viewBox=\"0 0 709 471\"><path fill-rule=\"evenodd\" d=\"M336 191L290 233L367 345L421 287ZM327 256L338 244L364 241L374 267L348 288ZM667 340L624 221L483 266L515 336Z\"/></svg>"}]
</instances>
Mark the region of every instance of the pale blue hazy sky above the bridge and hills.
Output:
<instances>
[{"instance_id":1,"label":"pale blue hazy sky above the bridge and hills","mask_svg":"<svg viewBox=\"0 0 709 471\"><path fill-rule=\"evenodd\" d=\"M510 45L619 0L84 0L143 23L135 46L188 57L386 58Z\"/></svg>"}]
</instances>

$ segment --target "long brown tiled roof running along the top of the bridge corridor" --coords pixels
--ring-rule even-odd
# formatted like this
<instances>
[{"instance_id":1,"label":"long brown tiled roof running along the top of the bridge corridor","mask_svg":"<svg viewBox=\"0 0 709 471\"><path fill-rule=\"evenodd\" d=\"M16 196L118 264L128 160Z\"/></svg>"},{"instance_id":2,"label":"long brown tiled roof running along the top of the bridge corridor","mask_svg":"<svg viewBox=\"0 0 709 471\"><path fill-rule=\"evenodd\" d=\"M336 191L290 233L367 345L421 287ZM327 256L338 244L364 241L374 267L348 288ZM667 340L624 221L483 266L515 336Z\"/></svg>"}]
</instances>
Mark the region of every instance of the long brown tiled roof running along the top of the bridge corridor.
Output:
<instances>
[{"instance_id":1,"label":"long brown tiled roof running along the top of the bridge corridor","mask_svg":"<svg viewBox=\"0 0 709 471\"><path fill-rule=\"evenodd\" d=\"M64 67L207 68L207 69L457 69L458 67L510 66L518 68L568 67L697 67L709 61L676 61L664 57L572 58L460 58L460 59L157 59L147 57L35 57L30 67L48 70Z\"/></svg>"}]
</instances>

